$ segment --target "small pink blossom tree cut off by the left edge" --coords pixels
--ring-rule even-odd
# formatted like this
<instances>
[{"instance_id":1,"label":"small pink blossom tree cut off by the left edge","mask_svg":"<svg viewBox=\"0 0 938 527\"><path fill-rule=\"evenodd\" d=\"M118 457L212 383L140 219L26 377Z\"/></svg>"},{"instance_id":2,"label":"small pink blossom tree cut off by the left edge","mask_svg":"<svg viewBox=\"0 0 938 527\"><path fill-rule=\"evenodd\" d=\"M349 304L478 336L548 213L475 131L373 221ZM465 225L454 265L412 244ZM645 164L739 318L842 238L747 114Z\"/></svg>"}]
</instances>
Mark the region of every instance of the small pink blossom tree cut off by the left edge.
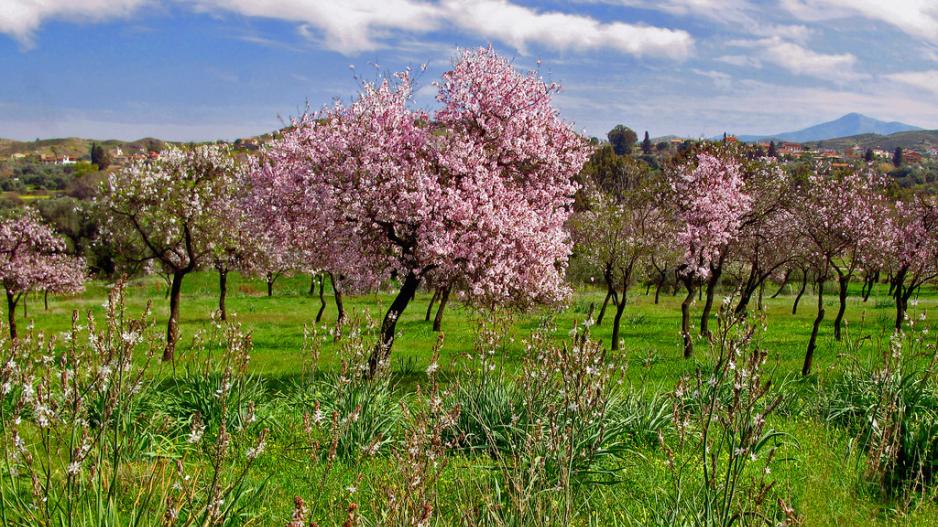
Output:
<instances>
[{"instance_id":1,"label":"small pink blossom tree cut off by the left edge","mask_svg":"<svg viewBox=\"0 0 938 527\"><path fill-rule=\"evenodd\" d=\"M27 209L0 221L0 280L7 294L10 338L16 339L16 306L29 291L75 293L84 288L85 262L66 254L65 241Z\"/></svg>"}]
</instances>

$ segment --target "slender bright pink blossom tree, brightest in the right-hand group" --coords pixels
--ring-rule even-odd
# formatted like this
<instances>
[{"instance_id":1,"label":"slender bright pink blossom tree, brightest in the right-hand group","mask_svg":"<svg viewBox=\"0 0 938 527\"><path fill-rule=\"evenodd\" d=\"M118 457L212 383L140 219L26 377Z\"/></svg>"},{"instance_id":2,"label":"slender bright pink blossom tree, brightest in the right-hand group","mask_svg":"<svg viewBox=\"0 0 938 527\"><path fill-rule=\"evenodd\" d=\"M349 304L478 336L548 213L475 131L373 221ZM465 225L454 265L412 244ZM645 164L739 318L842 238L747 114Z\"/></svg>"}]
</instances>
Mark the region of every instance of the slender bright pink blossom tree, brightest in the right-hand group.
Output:
<instances>
[{"instance_id":1,"label":"slender bright pink blossom tree, brightest in the right-hand group","mask_svg":"<svg viewBox=\"0 0 938 527\"><path fill-rule=\"evenodd\" d=\"M678 276L687 289L681 303L684 357L694 352L690 331L690 305L700 284L710 276L725 247L739 236L752 200L743 190L739 163L731 157L698 154L669 174L677 245L683 250Z\"/></svg>"}]
</instances>

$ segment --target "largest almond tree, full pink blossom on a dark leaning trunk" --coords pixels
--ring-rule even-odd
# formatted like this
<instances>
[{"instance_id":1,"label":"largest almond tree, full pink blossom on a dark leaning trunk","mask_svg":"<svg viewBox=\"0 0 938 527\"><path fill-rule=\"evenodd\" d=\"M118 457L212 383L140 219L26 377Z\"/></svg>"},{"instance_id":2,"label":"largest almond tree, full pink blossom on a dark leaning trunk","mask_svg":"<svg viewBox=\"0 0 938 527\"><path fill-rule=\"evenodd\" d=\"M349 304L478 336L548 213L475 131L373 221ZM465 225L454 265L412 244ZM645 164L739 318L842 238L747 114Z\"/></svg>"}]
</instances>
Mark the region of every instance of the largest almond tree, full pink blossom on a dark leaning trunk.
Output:
<instances>
[{"instance_id":1,"label":"largest almond tree, full pink blossom on a dark leaning trunk","mask_svg":"<svg viewBox=\"0 0 938 527\"><path fill-rule=\"evenodd\" d=\"M351 104L286 131L256 175L273 180L257 186L285 196L274 200L280 213L295 214L299 199L301 230L335 252L329 266L356 282L400 280L372 372L431 272L460 277L479 302L526 305L568 292L564 223L589 147L551 106L557 86L479 49L461 53L436 87L431 116L411 109L407 72L365 84Z\"/></svg>"}]
</instances>

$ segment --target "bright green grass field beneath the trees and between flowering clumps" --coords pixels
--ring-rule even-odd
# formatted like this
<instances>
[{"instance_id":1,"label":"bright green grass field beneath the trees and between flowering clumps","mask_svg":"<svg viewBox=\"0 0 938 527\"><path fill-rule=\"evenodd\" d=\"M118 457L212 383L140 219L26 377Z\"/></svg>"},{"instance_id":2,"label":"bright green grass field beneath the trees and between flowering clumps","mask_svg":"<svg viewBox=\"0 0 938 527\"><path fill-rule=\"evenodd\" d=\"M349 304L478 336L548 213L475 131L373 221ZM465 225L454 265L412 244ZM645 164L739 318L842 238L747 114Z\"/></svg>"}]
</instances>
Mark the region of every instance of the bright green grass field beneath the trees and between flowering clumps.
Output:
<instances>
[{"instance_id":1,"label":"bright green grass field beneath the trees and between flowering clumps","mask_svg":"<svg viewBox=\"0 0 938 527\"><path fill-rule=\"evenodd\" d=\"M192 336L209 328L212 323L211 315L217 306L216 281L216 275L207 272L186 278L177 368L192 360L188 346ZM37 331L64 332L70 325L72 309L91 310L101 316L107 287L108 284L94 283L78 297L50 298L48 310L43 309L41 297L32 296L28 299L26 320ZM229 279L228 311L231 321L241 324L253 335L250 371L263 379L266 402L270 406L268 413L277 421L268 453L259 458L257 470L250 476L253 483L265 483L253 524L285 524L295 495L304 497L313 514L320 519L320 525L339 524L348 487L359 488L357 496L362 502L367 502L368 493L374 492L367 482L373 478L380 479L389 462L379 457L360 463L339 463L324 479L322 468L308 463L298 446L299 418L286 415L282 405L278 406L278 398L288 392L304 372L307 360L303 351L304 327L313 323L319 309L319 298L309 296L308 288L308 276L285 277L276 283L274 295L267 297L263 282L237 276ZM163 282L157 278L134 280L128 285L128 291L130 311L139 312L148 301L152 301L160 323L165 320L168 300ZM774 287L768 288L766 296L773 292ZM681 357L680 293L678 296L663 294L659 305L654 305L652 296L643 293L643 288L635 288L630 297L631 304L623 316L621 335L625 347L621 353L628 363L627 383L631 389L644 390L645 393L668 392L674 389L681 375L698 366L698 360L706 359L707 348L705 342L700 341L694 359ZM322 322L325 328L334 324L336 316L332 298L328 295L327 291L328 305ZM346 308L353 318L380 320L392 295L393 292L385 291L355 296L346 300ZM600 290L577 292L566 309L554 313L558 327L556 338L565 338L568 330L586 317L591 304L598 309L602 297ZM431 323L424 321L429 298L429 294L421 292L398 323L401 336L394 346L392 369L401 382L401 392L411 391L425 379L424 371L437 341ZM853 352L854 356L845 355L847 348L833 340L836 295L828 294L828 299L828 318L820 333L815 374L807 380L801 380L799 372L815 316L816 297L811 296L809 290L797 315L791 314L793 297L788 291L776 299L765 300L767 327L760 345L769 352L773 379L778 383L788 383L786 389L796 399L795 405L803 403L797 401L799 394L810 394L814 385L837 376L838 366L845 362L874 360L882 352L882 344L891 332L895 311L891 299L886 296L886 286L878 285L867 302L858 298L858 290L852 291L846 316L846 339L870 338L859 347L859 351ZM694 306L695 314L699 313L699 304ZM926 313L936 304L938 296L933 291L923 292L913 314ZM523 353L521 340L548 314L544 311L511 315L511 332L515 338L508 342L497 360L508 369L519 366ZM608 343L611 333L612 316L607 315L607 320L602 326L593 328L592 333L594 338L604 343ZM25 329L27 323L22 304L19 316L21 327ZM443 321L445 343L440 368L444 374L452 375L457 368L463 367L465 361L460 358L474 349L479 320L487 317L489 315L463 307L458 302L450 303ZM156 329L164 328L158 326ZM325 346L323 357L325 369L336 371L339 368L335 348L331 344ZM168 366L161 366L159 375L171 375ZM791 504L804 525L938 525L938 506L934 497L907 506L882 498L869 489L863 479L863 454L853 448L853 437L849 431L827 424L807 412L777 415L772 424L790 437L774 471L775 490L791 498ZM583 499L589 501L592 510L582 523L627 524L627 517L634 522L642 514L642 504L653 501L665 485L664 472L664 457L658 448L646 445L636 449L634 456L626 460L617 483L581 489ZM440 483L441 511L436 516L437 521L443 525L459 524L460 513L446 510L446 504L450 498L455 503L457 496L467 492L467 478L471 481L489 477L491 474L484 459L457 456L452 460ZM465 496L462 501L465 502Z\"/></svg>"}]
</instances>

